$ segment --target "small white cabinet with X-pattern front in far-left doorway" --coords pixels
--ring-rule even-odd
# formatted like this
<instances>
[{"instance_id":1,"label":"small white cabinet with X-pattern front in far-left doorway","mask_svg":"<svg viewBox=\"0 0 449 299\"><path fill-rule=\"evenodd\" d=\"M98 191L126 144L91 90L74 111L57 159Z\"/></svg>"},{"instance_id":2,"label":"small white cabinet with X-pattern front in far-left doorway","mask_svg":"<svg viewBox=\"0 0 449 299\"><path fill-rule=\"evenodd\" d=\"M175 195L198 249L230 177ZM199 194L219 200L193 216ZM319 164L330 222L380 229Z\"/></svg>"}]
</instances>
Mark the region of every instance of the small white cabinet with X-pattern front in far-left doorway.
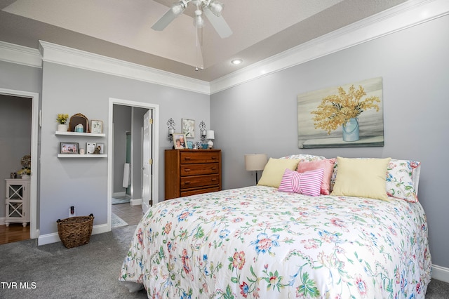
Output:
<instances>
[{"instance_id":1,"label":"small white cabinet with X-pattern front in far-left doorway","mask_svg":"<svg viewBox=\"0 0 449 299\"><path fill-rule=\"evenodd\" d=\"M29 179L6 179L5 224L29 222Z\"/></svg>"}]
</instances>

